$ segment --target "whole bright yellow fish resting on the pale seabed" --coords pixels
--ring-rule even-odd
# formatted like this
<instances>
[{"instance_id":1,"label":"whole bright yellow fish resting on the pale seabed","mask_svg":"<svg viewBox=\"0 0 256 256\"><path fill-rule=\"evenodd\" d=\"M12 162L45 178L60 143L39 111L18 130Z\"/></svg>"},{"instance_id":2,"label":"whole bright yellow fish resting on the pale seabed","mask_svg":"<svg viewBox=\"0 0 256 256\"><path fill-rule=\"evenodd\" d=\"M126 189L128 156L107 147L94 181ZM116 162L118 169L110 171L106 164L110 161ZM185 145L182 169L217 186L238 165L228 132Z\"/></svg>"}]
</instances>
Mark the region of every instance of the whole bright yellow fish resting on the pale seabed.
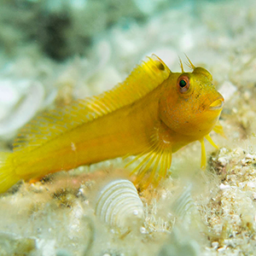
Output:
<instances>
[{"instance_id":1,"label":"whole bright yellow fish resting on the pale seabed","mask_svg":"<svg viewBox=\"0 0 256 256\"><path fill-rule=\"evenodd\" d=\"M0 193L20 179L125 155L137 155L132 162L144 156L133 172L146 188L166 176L172 153L194 141L201 142L206 166L204 137L216 146L209 132L222 133L217 122L224 98L206 69L191 61L191 73L181 67L182 73L172 73L152 55L113 90L32 120L15 139L14 152L0 154Z\"/></svg>"}]
</instances>

